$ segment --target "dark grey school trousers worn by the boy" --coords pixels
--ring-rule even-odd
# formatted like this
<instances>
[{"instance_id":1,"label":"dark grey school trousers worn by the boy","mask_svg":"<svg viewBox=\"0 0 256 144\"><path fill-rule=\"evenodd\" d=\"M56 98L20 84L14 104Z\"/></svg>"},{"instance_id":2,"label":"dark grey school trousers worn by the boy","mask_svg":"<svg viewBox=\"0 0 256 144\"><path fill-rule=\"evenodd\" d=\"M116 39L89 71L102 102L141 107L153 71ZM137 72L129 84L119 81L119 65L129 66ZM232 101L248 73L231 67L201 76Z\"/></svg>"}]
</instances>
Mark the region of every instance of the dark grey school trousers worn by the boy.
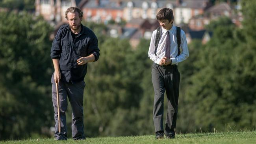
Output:
<instances>
[{"instance_id":1,"label":"dark grey school trousers worn by the boy","mask_svg":"<svg viewBox=\"0 0 256 144\"><path fill-rule=\"evenodd\" d=\"M152 83L154 87L153 121L155 132L164 131L166 135L175 135L178 114L180 73L177 66L152 65ZM163 99L167 95L167 116L163 130Z\"/></svg>"}]
</instances>

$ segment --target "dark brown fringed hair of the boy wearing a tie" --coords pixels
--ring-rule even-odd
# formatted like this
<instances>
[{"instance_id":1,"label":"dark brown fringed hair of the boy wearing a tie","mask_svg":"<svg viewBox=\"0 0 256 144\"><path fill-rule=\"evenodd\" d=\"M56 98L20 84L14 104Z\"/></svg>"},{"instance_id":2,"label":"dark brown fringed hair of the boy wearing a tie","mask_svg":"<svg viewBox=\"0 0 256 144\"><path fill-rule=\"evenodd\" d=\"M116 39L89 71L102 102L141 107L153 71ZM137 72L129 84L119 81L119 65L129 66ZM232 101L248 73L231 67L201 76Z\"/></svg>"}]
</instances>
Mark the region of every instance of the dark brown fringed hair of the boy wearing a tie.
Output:
<instances>
[{"instance_id":1,"label":"dark brown fringed hair of the boy wearing a tie","mask_svg":"<svg viewBox=\"0 0 256 144\"><path fill-rule=\"evenodd\" d=\"M169 22L171 22L171 20L174 21L174 17L173 17L173 10L169 9L169 8L162 8L160 11L158 11L157 15L156 15L156 19L157 20L169 20ZM173 24L172 21L172 24Z\"/></svg>"}]
</instances>

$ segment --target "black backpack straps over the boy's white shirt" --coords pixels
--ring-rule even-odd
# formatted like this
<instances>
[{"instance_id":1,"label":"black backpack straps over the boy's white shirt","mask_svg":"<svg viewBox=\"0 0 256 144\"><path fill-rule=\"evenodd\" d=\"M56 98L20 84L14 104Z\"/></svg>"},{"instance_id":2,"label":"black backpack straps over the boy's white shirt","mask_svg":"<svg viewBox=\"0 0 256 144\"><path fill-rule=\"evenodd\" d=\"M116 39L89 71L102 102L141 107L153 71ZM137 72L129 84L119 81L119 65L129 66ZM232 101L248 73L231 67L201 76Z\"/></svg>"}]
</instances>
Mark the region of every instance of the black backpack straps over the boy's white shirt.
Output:
<instances>
[{"instance_id":1,"label":"black backpack straps over the boy's white shirt","mask_svg":"<svg viewBox=\"0 0 256 144\"><path fill-rule=\"evenodd\" d=\"M176 26L176 27L177 27L176 28L176 38L177 38L177 43L178 43L178 55L180 55L180 43L181 43L181 41L180 41L180 27L178 27L178 26ZM155 55L156 55L156 51L157 51L157 48L158 48L159 40L160 40L160 37L161 37L161 33L162 33L162 29L161 29L161 26L160 26L156 30Z\"/></svg>"}]
</instances>

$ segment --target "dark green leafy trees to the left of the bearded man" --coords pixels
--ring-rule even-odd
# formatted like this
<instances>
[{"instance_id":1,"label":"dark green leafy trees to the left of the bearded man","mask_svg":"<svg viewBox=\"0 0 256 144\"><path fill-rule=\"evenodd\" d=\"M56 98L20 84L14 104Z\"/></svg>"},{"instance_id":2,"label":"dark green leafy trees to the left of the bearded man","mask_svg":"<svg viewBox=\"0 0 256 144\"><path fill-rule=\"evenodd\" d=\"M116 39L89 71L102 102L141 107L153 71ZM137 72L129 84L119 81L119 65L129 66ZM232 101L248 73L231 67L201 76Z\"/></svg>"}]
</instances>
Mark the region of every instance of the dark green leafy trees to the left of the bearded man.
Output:
<instances>
[{"instance_id":1,"label":"dark green leafy trees to the left of the bearded man","mask_svg":"<svg viewBox=\"0 0 256 144\"><path fill-rule=\"evenodd\" d=\"M26 12L0 13L0 139L42 134L52 126L52 28Z\"/></svg>"}]
</instances>

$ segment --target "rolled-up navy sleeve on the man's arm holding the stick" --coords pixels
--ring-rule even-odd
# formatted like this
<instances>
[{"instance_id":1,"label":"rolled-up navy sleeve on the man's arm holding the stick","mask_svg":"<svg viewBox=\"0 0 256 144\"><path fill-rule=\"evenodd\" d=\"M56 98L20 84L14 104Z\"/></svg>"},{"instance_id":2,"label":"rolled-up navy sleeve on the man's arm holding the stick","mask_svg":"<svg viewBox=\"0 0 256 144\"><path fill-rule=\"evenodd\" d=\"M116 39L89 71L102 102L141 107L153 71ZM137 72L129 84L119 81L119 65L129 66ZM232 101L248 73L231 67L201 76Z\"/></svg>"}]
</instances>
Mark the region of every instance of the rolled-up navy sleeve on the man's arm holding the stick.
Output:
<instances>
[{"instance_id":1,"label":"rolled-up navy sleeve on the man's arm holding the stick","mask_svg":"<svg viewBox=\"0 0 256 144\"><path fill-rule=\"evenodd\" d=\"M62 49L61 43L60 43L61 30L62 29L60 28L52 42L52 48L51 48L51 58L52 59L59 59L61 57L61 49Z\"/></svg>"}]
</instances>

